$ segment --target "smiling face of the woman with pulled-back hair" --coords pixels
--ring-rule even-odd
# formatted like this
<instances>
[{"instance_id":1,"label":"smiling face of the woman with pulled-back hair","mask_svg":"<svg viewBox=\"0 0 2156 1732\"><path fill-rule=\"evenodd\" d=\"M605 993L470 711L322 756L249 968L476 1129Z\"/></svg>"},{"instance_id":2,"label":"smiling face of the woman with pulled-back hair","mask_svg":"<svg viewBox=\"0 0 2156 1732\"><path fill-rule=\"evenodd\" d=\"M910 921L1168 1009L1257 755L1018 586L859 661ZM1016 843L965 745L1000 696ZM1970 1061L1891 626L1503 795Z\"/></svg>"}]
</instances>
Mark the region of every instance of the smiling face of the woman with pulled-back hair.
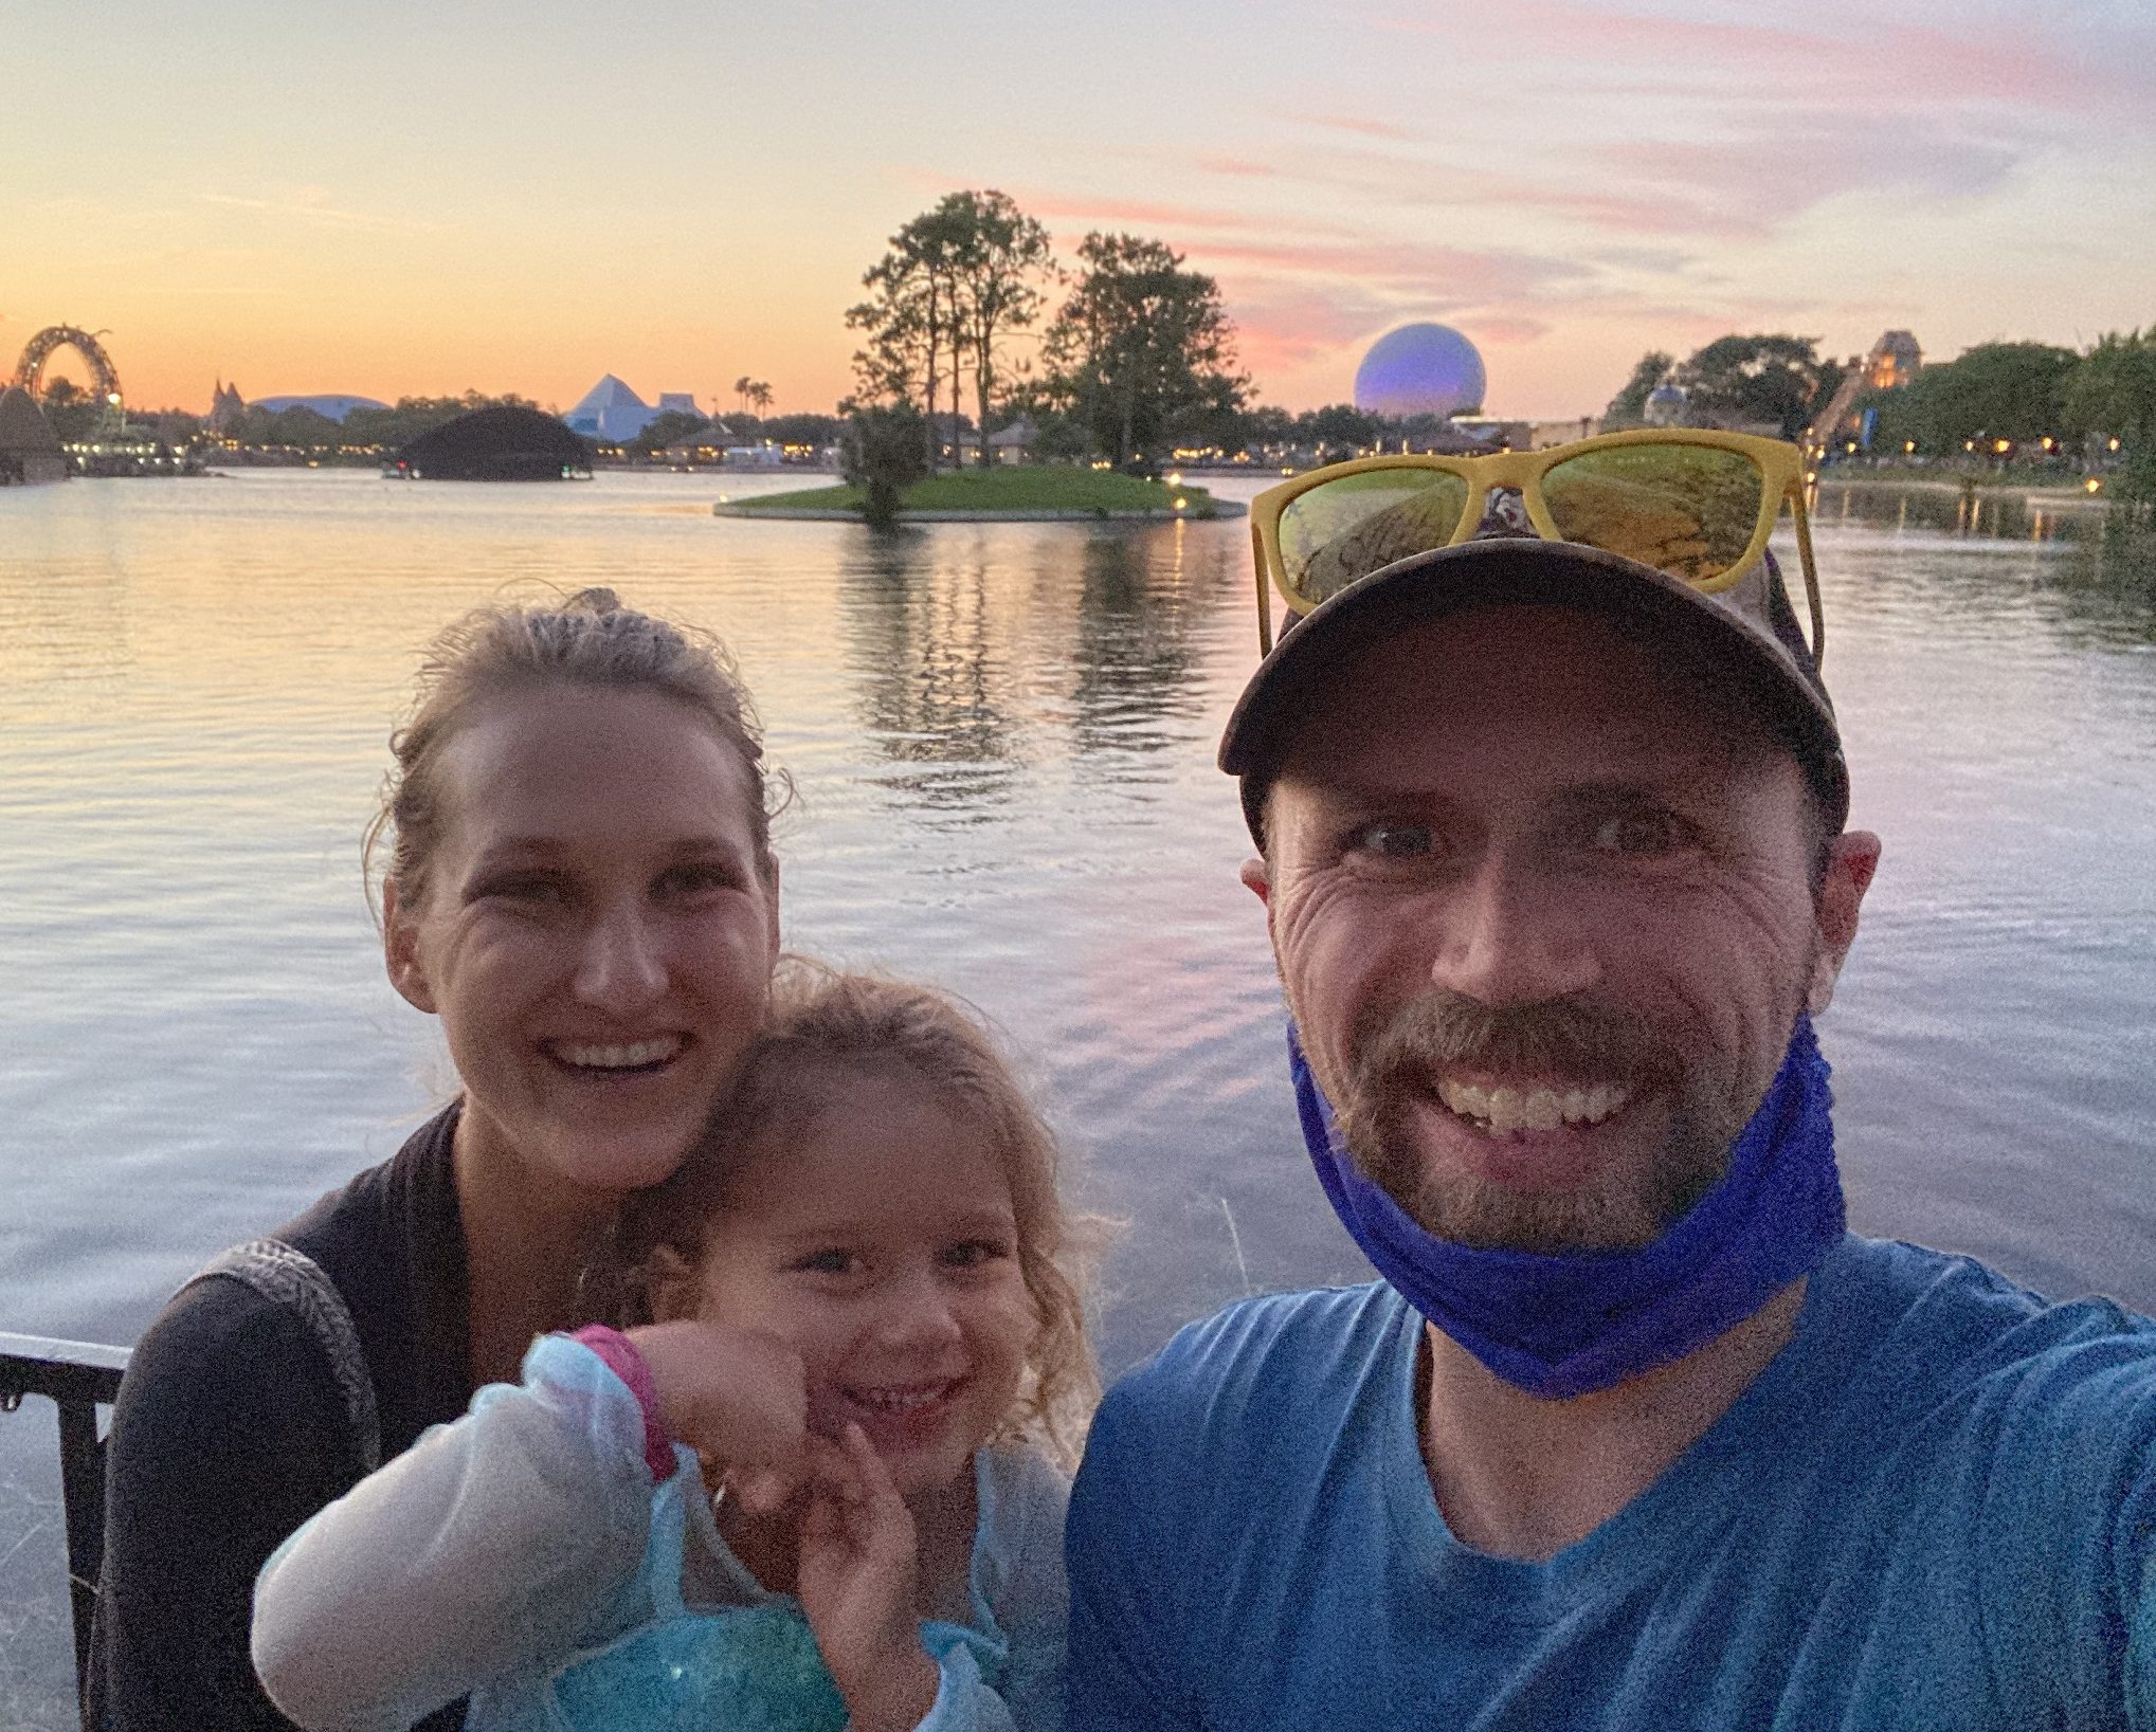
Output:
<instances>
[{"instance_id":1,"label":"smiling face of the woman with pulled-back hair","mask_svg":"<svg viewBox=\"0 0 2156 1732\"><path fill-rule=\"evenodd\" d=\"M763 1021L778 885L740 754L655 692L487 704L442 748L397 991L442 1019L459 1161L569 1196L666 1178Z\"/></svg>"}]
</instances>

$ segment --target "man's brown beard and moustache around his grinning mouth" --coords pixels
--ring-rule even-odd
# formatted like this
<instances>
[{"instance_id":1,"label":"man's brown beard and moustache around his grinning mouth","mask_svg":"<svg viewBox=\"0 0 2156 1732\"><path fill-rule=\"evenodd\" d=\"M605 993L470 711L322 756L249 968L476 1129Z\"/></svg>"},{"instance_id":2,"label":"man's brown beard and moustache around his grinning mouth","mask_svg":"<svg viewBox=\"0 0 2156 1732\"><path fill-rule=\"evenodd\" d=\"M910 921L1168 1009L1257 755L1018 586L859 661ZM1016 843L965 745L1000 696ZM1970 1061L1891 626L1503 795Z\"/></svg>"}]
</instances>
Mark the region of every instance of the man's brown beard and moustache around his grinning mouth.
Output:
<instances>
[{"instance_id":1,"label":"man's brown beard and moustache around his grinning mouth","mask_svg":"<svg viewBox=\"0 0 2156 1732\"><path fill-rule=\"evenodd\" d=\"M1667 1232L1729 1165L1751 1116L1714 1099L1667 1034L1572 1000L1490 1008L1429 991L1356 1043L1339 1125L1356 1165L1429 1234L1509 1252L1636 1249ZM1587 1185L1518 1191L1475 1174L1432 1174L1414 1114L1447 1112L1447 1071L1621 1084L1660 1097L1669 1131L1645 1168L1613 1165Z\"/></svg>"}]
</instances>

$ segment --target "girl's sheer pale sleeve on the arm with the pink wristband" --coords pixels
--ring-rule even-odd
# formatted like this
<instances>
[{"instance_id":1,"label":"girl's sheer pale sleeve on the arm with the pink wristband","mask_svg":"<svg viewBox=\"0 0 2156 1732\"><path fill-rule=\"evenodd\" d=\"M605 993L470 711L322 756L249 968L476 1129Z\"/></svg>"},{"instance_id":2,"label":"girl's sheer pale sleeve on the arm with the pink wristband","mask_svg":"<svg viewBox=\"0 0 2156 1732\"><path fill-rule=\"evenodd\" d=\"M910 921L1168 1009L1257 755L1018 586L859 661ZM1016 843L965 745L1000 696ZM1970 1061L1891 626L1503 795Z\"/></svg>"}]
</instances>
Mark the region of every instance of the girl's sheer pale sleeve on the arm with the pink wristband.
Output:
<instances>
[{"instance_id":1,"label":"girl's sheer pale sleeve on the arm with the pink wristband","mask_svg":"<svg viewBox=\"0 0 2156 1732\"><path fill-rule=\"evenodd\" d=\"M390 1732L625 1626L651 1534L642 1409L543 1336L522 1383L319 1510L254 1581L254 1670L308 1732Z\"/></svg>"}]
</instances>

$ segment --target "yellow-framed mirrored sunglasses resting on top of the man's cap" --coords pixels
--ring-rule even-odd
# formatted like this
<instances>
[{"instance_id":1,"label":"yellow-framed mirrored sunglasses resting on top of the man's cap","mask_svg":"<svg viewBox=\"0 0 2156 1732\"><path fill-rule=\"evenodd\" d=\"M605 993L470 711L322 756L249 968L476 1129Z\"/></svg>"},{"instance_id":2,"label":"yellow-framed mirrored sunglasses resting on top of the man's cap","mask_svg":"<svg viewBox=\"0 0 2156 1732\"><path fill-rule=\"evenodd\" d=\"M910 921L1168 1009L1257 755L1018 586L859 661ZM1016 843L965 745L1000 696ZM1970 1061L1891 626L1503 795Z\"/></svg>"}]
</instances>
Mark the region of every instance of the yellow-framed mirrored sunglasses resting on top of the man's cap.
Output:
<instances>
[{"instance_id":1,"label":"yellow-framed mirrored sunglasses resting on top of the man's cap","mask_svg":"<svg viewBox=\"0 0 2156 1732\"><path fill-rule=\"evenodd\" d=\"M1805 455L1781 439L1695 427L1600 433L1490 457L1358 457L1283 480L1250 500L1257 642L1272 651L1272 590L1307 614L1380 567L1473 539L1492 489L1514 489L1546 541L1574 541L1667 571L1705 595L1731 588L1781 517L1811 601L1813 666L1826 653L1805 513Z\"/></svg>"}]
</instances>

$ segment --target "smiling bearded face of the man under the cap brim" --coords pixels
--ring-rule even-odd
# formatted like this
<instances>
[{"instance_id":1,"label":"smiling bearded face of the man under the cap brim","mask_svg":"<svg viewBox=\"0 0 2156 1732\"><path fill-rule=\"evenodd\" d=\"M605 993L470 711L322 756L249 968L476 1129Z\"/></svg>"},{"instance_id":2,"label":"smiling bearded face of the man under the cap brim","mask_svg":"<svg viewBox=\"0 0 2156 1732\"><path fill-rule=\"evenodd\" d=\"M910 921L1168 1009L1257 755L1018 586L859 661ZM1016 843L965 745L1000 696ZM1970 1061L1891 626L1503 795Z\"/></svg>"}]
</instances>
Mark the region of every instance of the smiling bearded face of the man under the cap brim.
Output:
<instances>
[{"instance_id":1,"label":"smiling bearded face of the man under the cap brim","mask_svg":"<svg viewBox=\"0 0 2156 1732\"><path fill-rule=\"evenodd\" d=\"M1356 1161L1468 1245L1643 1245L1824 1008L1876 838L1818 849L1794 758L1606 623L1438 620L1285 763L1263 896Z\"/></svg>"}]
</instances>

